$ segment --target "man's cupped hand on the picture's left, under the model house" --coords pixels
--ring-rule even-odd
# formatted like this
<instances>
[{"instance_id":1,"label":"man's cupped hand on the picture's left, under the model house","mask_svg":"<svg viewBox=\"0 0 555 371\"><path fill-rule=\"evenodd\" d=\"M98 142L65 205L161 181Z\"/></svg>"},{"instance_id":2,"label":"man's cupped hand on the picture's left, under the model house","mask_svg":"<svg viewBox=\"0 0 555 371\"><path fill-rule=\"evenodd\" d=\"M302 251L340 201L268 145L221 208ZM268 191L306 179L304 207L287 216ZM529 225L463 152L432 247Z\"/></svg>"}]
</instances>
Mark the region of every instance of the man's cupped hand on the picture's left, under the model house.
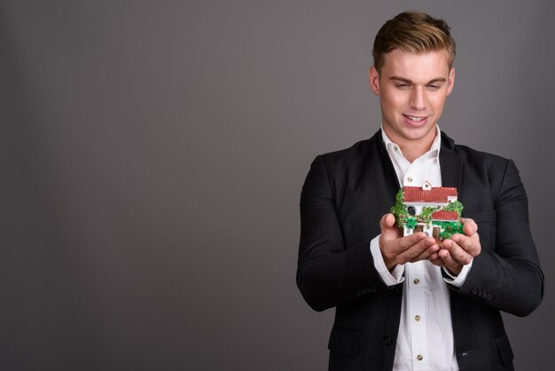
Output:
<instances>
[{"instance_id":1,"label":"man's cupped hand on the picture's left, under the model house","mask_svg":"<svg viewBox=\"0 0 555 371\"><path fill-rule=\"evenodd\" d=\"M440 249L434 238L427 237L423 232L403 237L403 231L395 225L393 214L381 217L379 227L379 249L390 271L396 264L425 260Z\"/></svg>"}]
</instances>

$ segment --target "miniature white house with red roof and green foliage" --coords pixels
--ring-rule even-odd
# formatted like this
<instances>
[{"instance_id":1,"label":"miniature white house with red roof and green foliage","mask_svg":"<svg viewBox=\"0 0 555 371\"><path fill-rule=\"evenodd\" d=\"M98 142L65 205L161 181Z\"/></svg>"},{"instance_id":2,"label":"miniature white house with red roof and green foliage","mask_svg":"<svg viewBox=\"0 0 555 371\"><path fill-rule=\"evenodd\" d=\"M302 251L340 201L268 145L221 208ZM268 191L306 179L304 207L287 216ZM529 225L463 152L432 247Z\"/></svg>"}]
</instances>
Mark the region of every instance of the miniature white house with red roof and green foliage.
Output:
<instances>
[{"instance_id":1,"label":"miniature white house with red roof and green foliage","mask_svg":"<svg viewBox=\"0 0 555 371\"><path fill-rule=\"evenodd\" d=\"M463 233L459 222L463 205L457 201L457 188L433 187L428 182L421 187L404 186L397 196L399 201L402 204L392 212L397 225L403 227L403 235L424 232L442 241L453 233Z\"/></svg>"}]
</instances>

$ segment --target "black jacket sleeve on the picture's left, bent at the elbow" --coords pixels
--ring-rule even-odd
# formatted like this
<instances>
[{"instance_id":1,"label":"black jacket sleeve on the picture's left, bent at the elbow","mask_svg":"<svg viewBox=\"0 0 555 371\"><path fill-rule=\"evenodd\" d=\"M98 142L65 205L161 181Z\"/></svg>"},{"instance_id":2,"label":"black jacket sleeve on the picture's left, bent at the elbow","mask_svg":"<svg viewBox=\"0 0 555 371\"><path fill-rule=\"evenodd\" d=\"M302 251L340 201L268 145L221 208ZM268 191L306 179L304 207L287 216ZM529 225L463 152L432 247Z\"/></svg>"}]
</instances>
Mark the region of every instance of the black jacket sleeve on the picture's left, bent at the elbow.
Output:
<instances>
[{"instance_id":1,"label":"black jacket sleeve on the picture's left, bent at the elbow","mask_svg":"<svg viewBox=\"0 0 555 371\"><path fill-rule=\"evenodd\" d=\"M346 248L336 204L332 181L318 156L301 192L297 267L297 285L316 311L388 289L374 268L370 240Z\"/></svg>"}]
</instances>

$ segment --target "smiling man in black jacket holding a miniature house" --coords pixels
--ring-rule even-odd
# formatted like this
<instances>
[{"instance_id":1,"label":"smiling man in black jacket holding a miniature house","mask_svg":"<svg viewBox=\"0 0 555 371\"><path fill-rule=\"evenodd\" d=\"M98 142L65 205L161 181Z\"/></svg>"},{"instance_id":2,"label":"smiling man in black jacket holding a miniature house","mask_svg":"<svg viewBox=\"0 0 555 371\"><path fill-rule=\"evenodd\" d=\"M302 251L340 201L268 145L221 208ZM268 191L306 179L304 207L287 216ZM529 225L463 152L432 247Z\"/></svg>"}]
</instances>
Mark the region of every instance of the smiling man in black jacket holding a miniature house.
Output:
<instances>
[{"instance_id":1,"label":"smiling man in black jacket holding a miniature house","mask_svg":"<svg viewBox=\"0 0 555 371\"><path fill-rule=\"evenodd\" d=\"M453 89L443 20L403 12L374 41L382 126L317 156L301 192L297 284L335 307L330 370L512 370L500 311L532 312L543 272L511 160L455 145L437 122ZM464 234L403 237L388 210L401 186L457 187Z\"/></svg>"}]
</instances>

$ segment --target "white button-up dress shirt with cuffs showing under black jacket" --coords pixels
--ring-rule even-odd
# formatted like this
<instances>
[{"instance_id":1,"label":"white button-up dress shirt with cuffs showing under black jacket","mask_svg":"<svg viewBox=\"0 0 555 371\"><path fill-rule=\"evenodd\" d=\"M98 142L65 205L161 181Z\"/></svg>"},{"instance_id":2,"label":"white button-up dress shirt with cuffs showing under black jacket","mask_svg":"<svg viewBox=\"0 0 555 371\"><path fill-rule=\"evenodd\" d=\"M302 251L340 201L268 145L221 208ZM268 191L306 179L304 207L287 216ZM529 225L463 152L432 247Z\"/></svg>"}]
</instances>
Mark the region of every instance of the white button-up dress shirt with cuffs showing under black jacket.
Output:
<instances>
[{"instance_id":1,"label":"white button-up dress shirt with cuffs showing under black jacket","mask_svg":"<svg viewBox=\"0 0 555 371\"><path fill-rule=\"evenodd\" d=\"M441 131L437 126L436 130L430 150L410 163L403 157L401 148L387 138L382 127L387 154L393 162L400 185L422 186L428 181L432 186L442 186L439 157ZM442 277L442 268L428 260L397 264L389 272L379 250L379 236L371 241L370 248L382 280L388 286L403 282L403 304L395 348L394 371L457 371L449 288L445 282L461 287L472 262L465 265L457 277L445 271L451 277L450 280Z\"/></svg>"}]
</instances>

